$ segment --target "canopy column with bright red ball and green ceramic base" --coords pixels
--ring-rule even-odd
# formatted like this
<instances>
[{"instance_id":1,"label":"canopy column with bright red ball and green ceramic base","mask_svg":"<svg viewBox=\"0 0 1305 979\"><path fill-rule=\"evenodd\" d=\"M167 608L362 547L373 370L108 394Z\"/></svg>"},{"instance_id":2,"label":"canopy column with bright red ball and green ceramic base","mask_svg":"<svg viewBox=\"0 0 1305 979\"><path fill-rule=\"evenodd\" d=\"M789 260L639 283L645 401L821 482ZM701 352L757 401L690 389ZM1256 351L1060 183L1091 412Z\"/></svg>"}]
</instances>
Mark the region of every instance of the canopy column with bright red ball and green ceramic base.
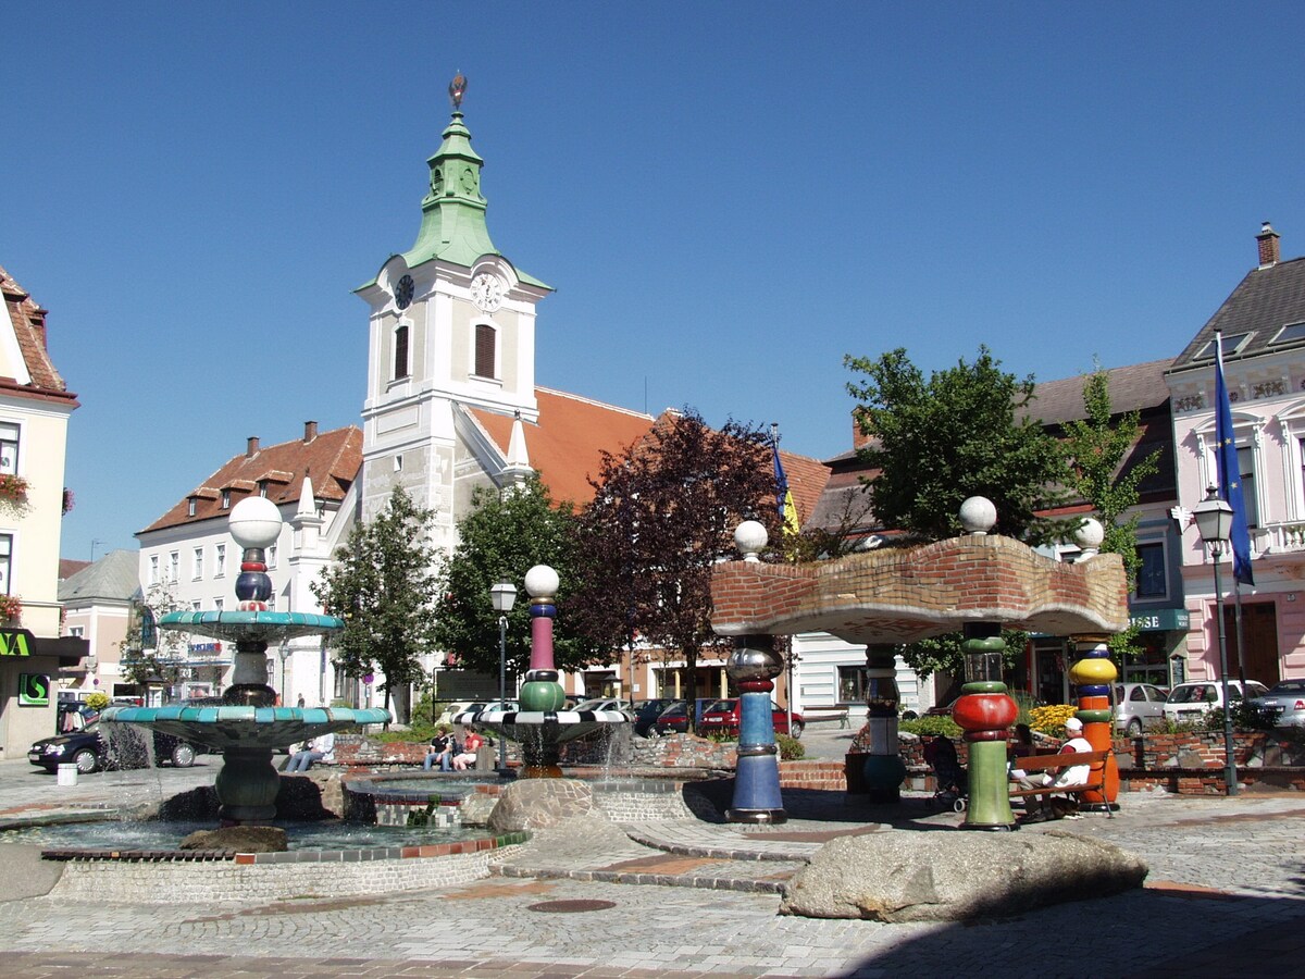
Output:
<instances>
[{"instance_id":1,"label":"canopy column with bright red ball and green ceramic base","mask_svg":"<svg viewBox=\"0 0 1305 979\"><path fill-rule=\"evenodd\" d=\"M970 804L966 829L1010 829L1015 815L1010 809L1006 743L1019 707L1001 681L1002 651L997 623L967 623L962 647L966 654L966 685L951 709L968 748L966 771Z\"/></svg>"}]
</instances>

